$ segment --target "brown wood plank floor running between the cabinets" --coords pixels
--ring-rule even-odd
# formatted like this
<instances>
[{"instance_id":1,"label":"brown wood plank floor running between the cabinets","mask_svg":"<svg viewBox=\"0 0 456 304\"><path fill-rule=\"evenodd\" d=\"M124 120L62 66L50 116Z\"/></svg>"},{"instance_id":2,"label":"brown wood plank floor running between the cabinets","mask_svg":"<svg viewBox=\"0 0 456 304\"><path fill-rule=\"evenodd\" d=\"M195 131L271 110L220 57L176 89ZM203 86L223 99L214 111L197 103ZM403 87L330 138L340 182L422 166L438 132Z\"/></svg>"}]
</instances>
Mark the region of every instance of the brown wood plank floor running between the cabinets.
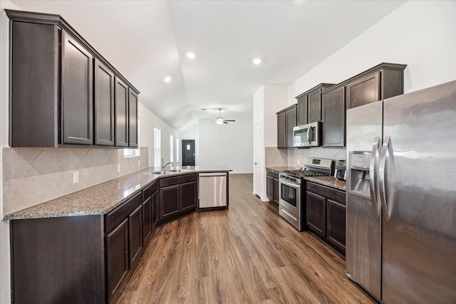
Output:
<instances>
[{"instance_id":1,"label":"brown wood plank floor running between the cabinets","mask_svg":"<svg viewBox=\"0 0 456 304\"><path fill-rule=\"evenodd\" d=\"M229 209L157 227L115 303L376 303L343 256L229 176Z\"/></svg>"}]
</instances>

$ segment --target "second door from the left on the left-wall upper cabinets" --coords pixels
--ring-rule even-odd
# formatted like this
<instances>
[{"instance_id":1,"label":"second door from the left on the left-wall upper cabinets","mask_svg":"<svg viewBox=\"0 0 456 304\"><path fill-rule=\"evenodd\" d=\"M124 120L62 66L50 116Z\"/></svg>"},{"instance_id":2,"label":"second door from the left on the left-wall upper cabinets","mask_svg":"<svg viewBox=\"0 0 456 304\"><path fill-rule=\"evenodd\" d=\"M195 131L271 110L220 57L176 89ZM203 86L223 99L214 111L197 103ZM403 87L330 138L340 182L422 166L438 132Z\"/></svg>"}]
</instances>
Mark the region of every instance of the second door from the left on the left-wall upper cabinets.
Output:
<instances>
[{"instance_id":1,"label":"second door from the left on the left-wall upper cabinets","mask_svg":"<svg viewBox=\"0 0 456 304\"><path fill-rule=\"evenodd\" d=\"M95 145L113 146L114 73L95 60Z\"/></svg>"}]
</instances>

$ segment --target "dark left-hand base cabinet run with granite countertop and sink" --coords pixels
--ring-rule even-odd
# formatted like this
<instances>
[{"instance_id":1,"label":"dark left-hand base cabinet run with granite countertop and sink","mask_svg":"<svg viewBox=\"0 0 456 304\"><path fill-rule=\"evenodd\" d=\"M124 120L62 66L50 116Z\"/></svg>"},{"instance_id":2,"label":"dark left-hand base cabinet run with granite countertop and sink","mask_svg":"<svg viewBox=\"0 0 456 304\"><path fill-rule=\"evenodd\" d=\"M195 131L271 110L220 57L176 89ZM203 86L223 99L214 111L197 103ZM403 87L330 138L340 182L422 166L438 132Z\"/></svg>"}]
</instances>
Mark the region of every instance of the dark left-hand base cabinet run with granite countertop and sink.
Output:
<instances>
[{"instance_id":1,"label":"dark left-hand base cabinet run with granite countertop and sink","mask_svg":"<svg viewBox=\"0 0 456 304\"><path fill-rule=\"evenodd\" d=\"M198 209L198 174L232 171L186 167L154 174L156 169L6 214L14 303L110 303L155 225ZM163 211L170 197L179 209L171 215Z\"/></svg>"}]
</instances>

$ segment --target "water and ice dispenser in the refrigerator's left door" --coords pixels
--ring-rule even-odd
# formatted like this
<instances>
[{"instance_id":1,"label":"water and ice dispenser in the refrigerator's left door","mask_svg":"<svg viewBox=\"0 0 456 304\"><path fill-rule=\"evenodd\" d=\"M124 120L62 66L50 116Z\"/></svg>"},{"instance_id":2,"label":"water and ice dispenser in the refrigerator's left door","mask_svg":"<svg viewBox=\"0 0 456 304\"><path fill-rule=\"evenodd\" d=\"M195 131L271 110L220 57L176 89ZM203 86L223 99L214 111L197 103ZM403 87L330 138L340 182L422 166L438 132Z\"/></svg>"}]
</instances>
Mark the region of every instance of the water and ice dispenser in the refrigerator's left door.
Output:
<instances>
[{"instance_id":1,"label":"water and ice dispenser in the refrigerator's left door","mask_svg":"<svg viewBox=\"0 0 456 304\"><path fill-rule=\"evenodd\" d=\"M370 151L350 151L350 186L349 190L361 196L371 196L369 184Z\"/></svg>"}]
</instances>

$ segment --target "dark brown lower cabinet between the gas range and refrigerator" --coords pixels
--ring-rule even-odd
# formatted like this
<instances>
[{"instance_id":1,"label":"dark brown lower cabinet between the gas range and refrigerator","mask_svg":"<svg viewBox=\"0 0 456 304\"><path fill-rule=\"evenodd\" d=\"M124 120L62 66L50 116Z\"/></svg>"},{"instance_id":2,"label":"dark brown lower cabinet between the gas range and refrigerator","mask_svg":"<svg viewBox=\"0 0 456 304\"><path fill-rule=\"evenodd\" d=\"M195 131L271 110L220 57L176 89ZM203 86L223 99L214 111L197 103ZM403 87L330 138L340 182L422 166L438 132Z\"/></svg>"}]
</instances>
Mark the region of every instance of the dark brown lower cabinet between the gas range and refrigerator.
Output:
<instances>
[{"instance_id":1,"label":"dark brown lower cabinet between the gas range and refrigerator","mask_svg":"<svg viewBox=\"0 0 456 304\"><path fill-rule=\"evenodd\" d=\"M317 236L345 255L345 192L306 182L306 224Z\"/></svg>"}]
</instances>

